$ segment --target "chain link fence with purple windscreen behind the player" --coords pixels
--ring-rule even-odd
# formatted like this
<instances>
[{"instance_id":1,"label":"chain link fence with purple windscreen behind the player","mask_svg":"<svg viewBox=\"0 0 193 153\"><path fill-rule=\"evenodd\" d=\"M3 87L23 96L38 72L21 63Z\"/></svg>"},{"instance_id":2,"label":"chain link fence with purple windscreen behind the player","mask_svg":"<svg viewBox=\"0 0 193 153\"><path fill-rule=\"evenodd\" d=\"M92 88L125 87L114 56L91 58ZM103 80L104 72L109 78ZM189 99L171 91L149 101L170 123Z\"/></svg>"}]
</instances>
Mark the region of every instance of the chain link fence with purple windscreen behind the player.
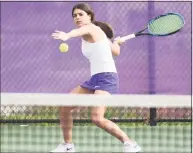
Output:
<instances>
[{"instance_id":1,"label":"chain link fence with purple windscreen behind the player","mask_svg":"<svg viewBox=\"0 0 193 153\"><path fill-rule=\"evenodd\" d=\"M115 57L115 62L121 94L149 94L152 83L156 94L191 94L191 2L88 3L95 11L96 20L112 25L115 36L136 32L163 13L182 14L186 24L181 32L168 37L144 36L130 40L122 45L121 55ZM68 32L75 28L71 15L75 4L77 2L1 2L2 93L68 93L89 78L89 63L81 53L79 38L67 42L69 52L60 53L60 41L50 37L56 29ZM154 56L150 59L152 53ZM77 111L83 119L88 118L88 111ZM122 113L114 116L116 111ZM158 120L191 118L190 109L156 111ZM112 119L147 120L149 110L108 108L106 115ZM78 116L74 117L81 119ZM28 119L58 122L58 109L1 106L2 122Z\"/></svg>"}]
</instances>

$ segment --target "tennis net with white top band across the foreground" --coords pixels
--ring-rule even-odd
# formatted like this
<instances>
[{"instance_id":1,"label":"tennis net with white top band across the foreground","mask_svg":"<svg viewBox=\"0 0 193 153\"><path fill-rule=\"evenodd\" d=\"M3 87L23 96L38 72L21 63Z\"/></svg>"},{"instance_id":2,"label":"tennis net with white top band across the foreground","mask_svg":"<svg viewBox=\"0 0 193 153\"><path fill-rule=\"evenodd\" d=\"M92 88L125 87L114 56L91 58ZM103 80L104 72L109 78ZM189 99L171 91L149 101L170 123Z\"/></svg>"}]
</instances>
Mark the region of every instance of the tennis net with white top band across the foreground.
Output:
<instances>
[{"instance_id":1,"label":"tennis net with white top band across the foreground","mask_svg":"<svg viewBox=\"0 0 193 153\"><path fill-rule=\"evenodd\" d=\"M49 152L63 142L58 107L73 110L77 152L122 152L121 142L91 121L91 107L143 152L191 152L191 97L177 95L1 94L1 152ZM153 123L153 124L152 124ZM155 126L150 126L155 125Z\"/></svg>"}]
</instances>

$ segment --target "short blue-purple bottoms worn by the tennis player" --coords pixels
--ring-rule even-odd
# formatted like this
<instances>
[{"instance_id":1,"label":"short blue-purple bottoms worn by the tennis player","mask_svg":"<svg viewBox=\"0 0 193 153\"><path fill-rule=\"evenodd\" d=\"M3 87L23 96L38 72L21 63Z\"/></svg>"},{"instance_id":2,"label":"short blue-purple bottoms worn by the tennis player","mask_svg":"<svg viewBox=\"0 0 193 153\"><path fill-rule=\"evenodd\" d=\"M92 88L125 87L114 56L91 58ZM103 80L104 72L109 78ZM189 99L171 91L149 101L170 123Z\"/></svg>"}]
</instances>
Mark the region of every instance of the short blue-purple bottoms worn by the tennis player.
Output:
<instances>
[{"instance_id":1,"label":"short blue-purple bottoms worn by the tennis player","mask_svg":"<svg viewBox=\"0 0 193 153\"><path fill-rule=\"evenodd\" d=\"M119 88L119 77L114 72L98 73L80 86L93 91L104 90L110 94L116 94Z\"/></svg>"}]
</instances>

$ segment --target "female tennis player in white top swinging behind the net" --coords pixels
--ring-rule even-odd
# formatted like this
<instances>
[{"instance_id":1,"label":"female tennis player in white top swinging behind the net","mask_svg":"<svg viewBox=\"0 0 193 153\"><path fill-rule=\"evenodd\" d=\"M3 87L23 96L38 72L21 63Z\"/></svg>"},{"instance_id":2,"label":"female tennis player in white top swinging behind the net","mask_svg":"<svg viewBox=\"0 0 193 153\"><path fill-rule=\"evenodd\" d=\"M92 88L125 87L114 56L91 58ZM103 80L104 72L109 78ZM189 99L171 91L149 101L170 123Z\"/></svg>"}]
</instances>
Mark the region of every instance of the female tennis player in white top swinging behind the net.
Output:
<instances>
[{"instance_id":1,"label":"female tennis player in white top swinging behind the net","mask_svg":"<svg viewBox=\"0 0 193 153\"><path fill-rule=\"evenodd\" d=\"M52 33L52 37L63 41L73 37L81 37L82 53L90 61L91 78L76 87L71 93L95 95L117 93L119 79L112 53L119 55L119 44L121 41L117 39L113 43L110 42L109 38L112 37L111 27L107 26L107 24L94 21L94 12L88 4L80 3L75 5L72 9L72 16L78 28L69 33L55 31ZM75 146L72 142L72 110L74 108L60 108L60 125L65 143L60 144L51 152L75 152ZM105 107L91 108L92 122L118 138L123 143L124 152L139 152L141 148L135 141L129 139L126 133L115 123L104 118L105 110Z\"/></svg>"}]
</instances>

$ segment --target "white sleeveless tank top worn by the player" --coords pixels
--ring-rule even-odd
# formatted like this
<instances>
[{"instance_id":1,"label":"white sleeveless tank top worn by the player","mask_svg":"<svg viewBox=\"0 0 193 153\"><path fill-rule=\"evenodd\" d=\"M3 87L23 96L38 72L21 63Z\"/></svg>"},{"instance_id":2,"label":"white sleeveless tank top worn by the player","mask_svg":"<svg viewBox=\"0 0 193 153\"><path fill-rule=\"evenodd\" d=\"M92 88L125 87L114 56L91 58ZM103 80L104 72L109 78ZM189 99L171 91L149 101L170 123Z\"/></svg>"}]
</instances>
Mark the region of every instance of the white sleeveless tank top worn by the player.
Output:
<instances>
[{"instance_id":1,"label":"white sleeveless tank top worn by the player","mask_svg":"<svg viewBox=\"0 0 193 153\"><path fill-rule=\"evenodd\" d=\"M90 43L82 39L82 53L90 61L91 76L102 72L117 73L108 38Z\"/></svg>"}]
</instances>

